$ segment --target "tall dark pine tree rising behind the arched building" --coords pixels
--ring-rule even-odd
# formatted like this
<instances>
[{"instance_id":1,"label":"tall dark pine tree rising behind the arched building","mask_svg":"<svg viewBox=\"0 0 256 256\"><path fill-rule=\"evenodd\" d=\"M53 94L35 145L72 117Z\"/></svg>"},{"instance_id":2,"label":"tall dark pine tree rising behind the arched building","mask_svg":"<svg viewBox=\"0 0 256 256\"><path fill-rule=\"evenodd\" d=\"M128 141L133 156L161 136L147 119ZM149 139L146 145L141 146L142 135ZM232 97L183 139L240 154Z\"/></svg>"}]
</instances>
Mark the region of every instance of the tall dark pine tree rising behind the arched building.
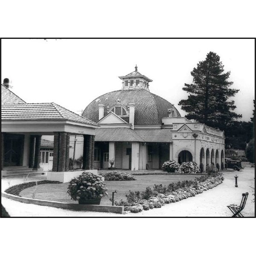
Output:
<instances>
[{"instance_id":1,"label":"tall dark pine tree rising behind the arched building","mask_svg":"<svg viewBox=\"0 0 256 256\"><path fill-rule=\"evenodd\" d=\"M228 81L230 71L224 73L224 65L215 52L209 52L204 61L199 61L191 72L192 84L182 88L189 93L188 99L179 102L186 111L186 118L195 119L211 127L227 131L227 126L241 115L233 112L236 108L233 97L239 90L231 89Z\"/></svg>"}]
</instances>

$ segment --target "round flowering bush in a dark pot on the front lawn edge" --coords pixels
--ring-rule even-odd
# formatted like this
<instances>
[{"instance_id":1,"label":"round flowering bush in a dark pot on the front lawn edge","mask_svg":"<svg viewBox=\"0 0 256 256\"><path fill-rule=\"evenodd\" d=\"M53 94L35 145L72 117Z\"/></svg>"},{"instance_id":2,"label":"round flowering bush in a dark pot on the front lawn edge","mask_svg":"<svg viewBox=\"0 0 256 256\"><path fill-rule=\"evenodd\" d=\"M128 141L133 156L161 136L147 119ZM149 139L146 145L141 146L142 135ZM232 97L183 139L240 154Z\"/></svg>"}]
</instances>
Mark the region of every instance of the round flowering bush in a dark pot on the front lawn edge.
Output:
<instances>
[{"instance_id":1,"label":"round flowering bush in a dark pot on the front lawn edge","mask_svg":"<svg viewBox=\"0 0 256 256\"><path fill-rule=\"evenodd\" d=\"M70 180L67 193L79 204L100 204L101 198L108 195L106 184L102 176L90 172L83 172Z\"/></svg>"}]
</instances>

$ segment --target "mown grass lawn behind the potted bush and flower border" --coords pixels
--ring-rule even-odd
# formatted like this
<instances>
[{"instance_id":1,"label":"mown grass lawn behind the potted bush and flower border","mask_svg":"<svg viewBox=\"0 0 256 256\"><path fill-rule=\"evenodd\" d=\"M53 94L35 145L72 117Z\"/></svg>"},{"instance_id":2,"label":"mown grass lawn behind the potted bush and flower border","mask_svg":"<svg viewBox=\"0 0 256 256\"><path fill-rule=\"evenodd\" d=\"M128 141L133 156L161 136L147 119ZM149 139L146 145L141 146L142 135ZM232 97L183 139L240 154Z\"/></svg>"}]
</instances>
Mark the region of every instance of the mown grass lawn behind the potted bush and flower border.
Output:
<instances>
[{"instance_id":1,"label":"mown grass lawn behind the potted bush and flower border","mask_svg":"<svg viewBox=\"0 0 256 256\"><path fill-rule=\"evenodd\" d=\"M125 195L131 191L140 191L146 189L146 187L153 188L154 184L163 184L169 185L172 182L178 182L183 180L193 180L195 177L200 177L200 175L137 175L135 176L137 180L131 181L105 181L108 188L108 196L102 198L102 205L111 205L112 191L117 191L114 194L115 201L120 199L126 200ZM70 196L67 194L67 186L69 183L61 184L42 184L38 185L35 199L47 200L47 201L58 201L65 203L75 203L70 199ZM24 189L20 192L20 196L26 198L32 198L32 194L35 187Z\"/></svg>"}]
</instances>

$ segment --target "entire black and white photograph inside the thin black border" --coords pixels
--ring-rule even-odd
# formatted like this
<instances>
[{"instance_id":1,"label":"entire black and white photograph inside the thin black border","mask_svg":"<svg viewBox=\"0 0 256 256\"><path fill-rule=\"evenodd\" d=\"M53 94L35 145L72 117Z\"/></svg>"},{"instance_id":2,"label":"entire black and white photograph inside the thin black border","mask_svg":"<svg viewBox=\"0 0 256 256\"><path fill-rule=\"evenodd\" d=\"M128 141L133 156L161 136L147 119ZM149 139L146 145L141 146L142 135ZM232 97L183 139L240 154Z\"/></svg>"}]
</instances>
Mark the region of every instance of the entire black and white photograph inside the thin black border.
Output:
<instances>
[{"instance_id":1,"label":"entire black and white photograph inside the thin black border","mask_svg":"<svg viewBox=\"0 0 256 256\"><path fill-rule=\"evenodd\" d=\"M255 217L254 45L2 39L1 214Z\"/></svg>"}]
</instances>

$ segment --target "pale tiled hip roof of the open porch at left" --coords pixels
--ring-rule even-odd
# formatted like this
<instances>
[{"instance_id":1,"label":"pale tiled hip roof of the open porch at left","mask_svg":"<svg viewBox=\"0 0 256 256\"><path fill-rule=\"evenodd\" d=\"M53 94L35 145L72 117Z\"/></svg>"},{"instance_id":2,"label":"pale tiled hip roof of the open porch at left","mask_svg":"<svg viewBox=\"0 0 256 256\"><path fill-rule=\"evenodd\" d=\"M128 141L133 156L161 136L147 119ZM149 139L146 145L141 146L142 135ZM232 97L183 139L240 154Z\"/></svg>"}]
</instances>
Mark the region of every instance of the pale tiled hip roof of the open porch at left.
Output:
<instances>
[{"instance_id":1,"label":"pale tiled hip roof of the open porch at left","mask_svg":"<svg viewBox=\"0 0 256 256\"><path fill-rule=\"evenodd\" d=\"M60 105L52 103L4 104L1 107L2 120L49 120L63 119L84 124L96 125L89 119L79 116Z\"/></svg>"}]
</instances>

